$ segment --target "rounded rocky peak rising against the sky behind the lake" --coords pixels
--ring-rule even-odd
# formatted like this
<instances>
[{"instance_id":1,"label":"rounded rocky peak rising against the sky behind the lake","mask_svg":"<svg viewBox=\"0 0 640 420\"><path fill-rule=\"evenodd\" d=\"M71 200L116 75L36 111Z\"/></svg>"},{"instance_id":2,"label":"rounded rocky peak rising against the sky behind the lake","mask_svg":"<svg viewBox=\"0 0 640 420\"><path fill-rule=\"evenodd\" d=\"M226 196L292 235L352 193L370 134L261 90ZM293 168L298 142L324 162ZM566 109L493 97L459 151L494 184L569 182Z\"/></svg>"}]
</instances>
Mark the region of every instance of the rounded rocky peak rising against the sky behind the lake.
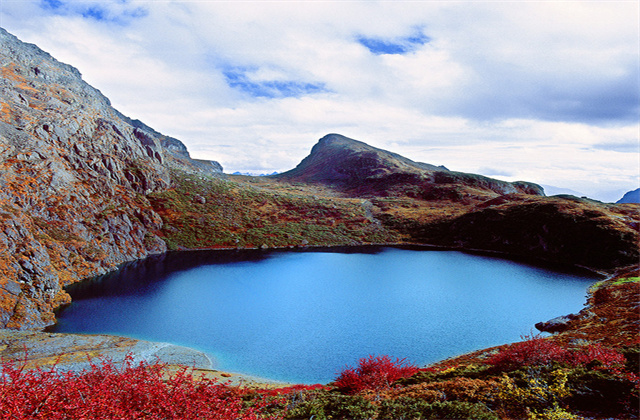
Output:
<instances>
[{"instance_id":1,"label":"rounded rocky peak rising against the sky behind the lake","mask_svg":"<svg viewBox=\"0 0 640 420\"><path fill-rule=\"evenodd\" d=\"M453 172L339 134L321 138L296 168L274 178L326 184L355 196L408 195L425 200L470 201L510 193L544 195L542 187L533 183Z\"/></svg>"}]
</instances>

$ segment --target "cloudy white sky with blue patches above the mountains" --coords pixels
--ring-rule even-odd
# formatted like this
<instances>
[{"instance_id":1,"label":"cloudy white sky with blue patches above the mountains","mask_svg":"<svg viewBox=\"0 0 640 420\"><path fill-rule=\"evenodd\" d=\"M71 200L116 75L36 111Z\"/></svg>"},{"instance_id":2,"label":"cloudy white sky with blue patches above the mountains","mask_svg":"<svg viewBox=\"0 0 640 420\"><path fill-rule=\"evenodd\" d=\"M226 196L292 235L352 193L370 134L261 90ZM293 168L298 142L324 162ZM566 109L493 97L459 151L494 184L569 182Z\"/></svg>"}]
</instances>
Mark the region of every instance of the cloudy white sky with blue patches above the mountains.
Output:
<instances>
[{"instance_id":1,"label":"cloudy white sky with blue patches above the mountains","mask_svg":"<svg viewBox=\"0 0 640 420\"><path fill-rule=\"evenodd\" d=\"M639 187L639 21L635 0L0 1L1 27L227 173L339 133L601 201Z\"/></svg>"}]
</instances>

